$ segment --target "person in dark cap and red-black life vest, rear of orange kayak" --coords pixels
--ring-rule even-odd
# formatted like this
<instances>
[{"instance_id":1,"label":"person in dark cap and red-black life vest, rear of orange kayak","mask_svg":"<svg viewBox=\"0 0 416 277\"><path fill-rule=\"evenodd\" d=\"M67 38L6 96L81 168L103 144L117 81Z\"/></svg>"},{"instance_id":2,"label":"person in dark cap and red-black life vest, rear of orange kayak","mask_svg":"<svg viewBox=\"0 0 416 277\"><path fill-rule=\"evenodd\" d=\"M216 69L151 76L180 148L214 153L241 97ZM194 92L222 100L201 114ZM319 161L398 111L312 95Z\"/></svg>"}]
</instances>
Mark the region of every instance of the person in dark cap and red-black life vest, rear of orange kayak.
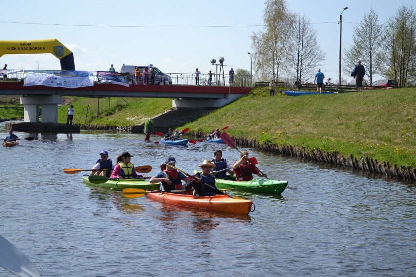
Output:
<instances>
[{"instance_id":1,"label":"person in dark cap and red-black life vest, rear of orange kayak","mask_svg":"<svg viewBox=\"0 0 416 277\"><path fill-rule=\"evenodd\" d=\"M160 182L161 191L185 190L189 179L182 172L178 172L169 165L176 165L176 159L172 156L167 157L165 163L161 164L161 172L150 178L149 183L155 184ZM185 184L182 184L185 181Z\"/></svg>"}]
</instances>

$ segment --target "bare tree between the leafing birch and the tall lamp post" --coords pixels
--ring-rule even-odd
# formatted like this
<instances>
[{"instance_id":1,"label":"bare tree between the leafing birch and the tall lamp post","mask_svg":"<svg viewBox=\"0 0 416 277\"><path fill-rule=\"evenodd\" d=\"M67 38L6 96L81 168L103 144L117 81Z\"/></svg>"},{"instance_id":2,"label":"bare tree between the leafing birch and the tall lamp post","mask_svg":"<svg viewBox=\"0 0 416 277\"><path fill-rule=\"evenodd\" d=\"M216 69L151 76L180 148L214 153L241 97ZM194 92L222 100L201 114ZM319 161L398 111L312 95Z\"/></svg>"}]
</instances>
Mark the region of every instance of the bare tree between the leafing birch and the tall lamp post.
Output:
<instances>
[{"instance_id":1,"label":"bare tree between the leafing birch and the tall lamp post","mask_svg":"<svg viewBox=\"0 0 416 277\"><path fill-rule=\"evenodd\" d=\"M312 22L304 13L296 17L295 27L292 33L293 53L292 63L296 70L296 80L300 81L310 76L325 59L326 53L321 49L316 40L316 30ZM300 82L298 82L300 84Z\"/></svg>"}]
</instances>

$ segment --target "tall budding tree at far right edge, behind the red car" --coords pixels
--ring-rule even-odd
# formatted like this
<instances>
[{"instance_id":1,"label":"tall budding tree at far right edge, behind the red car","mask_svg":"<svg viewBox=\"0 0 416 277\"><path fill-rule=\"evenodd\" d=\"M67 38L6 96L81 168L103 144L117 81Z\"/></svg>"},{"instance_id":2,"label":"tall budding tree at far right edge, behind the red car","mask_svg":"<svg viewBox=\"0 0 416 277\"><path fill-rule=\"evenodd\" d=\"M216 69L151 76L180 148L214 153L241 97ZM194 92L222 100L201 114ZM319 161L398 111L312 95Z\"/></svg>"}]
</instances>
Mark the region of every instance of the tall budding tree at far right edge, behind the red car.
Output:
<instances>
[{"instance_id":1,"label":"tall budding tree at far right edge, behind the red car","mask_svg":"<svg viewBox=\"0 0 416 277\"><path fill-rule=\"evenodd\" d=\"M400 87L416 80L416 12L413 6L401 6L385 24L384 75Z\"/></svg>"}]
</instances>

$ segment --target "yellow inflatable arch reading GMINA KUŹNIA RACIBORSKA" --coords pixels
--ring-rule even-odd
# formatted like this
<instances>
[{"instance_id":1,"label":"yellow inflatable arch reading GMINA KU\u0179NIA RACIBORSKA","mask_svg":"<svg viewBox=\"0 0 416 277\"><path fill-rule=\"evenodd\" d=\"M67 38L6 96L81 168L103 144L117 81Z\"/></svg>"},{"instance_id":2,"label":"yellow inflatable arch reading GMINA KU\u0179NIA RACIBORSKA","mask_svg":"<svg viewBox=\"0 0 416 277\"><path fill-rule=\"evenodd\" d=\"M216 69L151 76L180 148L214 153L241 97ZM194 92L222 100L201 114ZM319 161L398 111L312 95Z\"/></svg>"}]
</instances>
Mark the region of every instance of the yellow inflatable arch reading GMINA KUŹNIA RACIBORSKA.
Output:
<instances>
[{"instance_id":1,"label":"yellow inflatable arch reading GMINA KU\u0179NIA RACIBORSKA","mask_svg":"<svg viewBox=\"0 0 416 277\"><path fill-rule=\"evenodd\" d=\"M61 70L75 70L74 53L58 40L0 40L0 57L6 54L44 53L57 57Z\"/></svg>"}]
</instances>

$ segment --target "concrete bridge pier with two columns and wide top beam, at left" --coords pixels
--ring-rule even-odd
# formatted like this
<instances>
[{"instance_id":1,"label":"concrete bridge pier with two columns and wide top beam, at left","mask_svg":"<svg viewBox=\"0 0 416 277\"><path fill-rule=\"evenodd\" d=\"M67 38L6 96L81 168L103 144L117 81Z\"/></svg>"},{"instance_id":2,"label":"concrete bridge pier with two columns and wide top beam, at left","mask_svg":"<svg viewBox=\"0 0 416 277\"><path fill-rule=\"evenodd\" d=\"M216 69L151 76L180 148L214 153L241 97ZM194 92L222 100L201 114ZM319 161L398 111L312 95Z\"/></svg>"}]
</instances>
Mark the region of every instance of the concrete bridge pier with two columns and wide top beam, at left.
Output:
<instances>
[{"instance_id":1,"label":"concrete bridge pier with two columns and wide top beam, at left","mask_svg":"<svg viewBox=\"0 0 416 277\"><path fill-rule=\"evenodd\" d=\"M58 104L62 103L61 95L22 96L20 103L24 106L24 122L38 122L39 105L42 105L42 122L58 123Z\"/></svg>"}]
</instances>

